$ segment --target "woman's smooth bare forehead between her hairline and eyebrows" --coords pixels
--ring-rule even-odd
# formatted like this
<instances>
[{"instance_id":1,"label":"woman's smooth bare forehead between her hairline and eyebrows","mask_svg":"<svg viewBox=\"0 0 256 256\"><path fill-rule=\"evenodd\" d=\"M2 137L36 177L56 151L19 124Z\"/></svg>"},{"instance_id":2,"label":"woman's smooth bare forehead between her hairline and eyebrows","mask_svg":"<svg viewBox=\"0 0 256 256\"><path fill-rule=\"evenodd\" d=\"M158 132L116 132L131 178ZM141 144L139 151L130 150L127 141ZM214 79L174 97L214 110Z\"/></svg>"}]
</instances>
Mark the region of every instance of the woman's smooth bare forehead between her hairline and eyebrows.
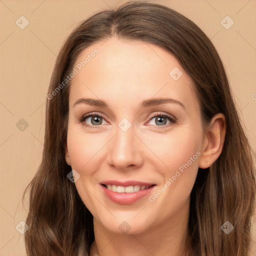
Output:
<instances>
[{"instance_id":1,"label":"woman's smooth bare forehead between her hairline and eyebrows","mask_svg":"<svg viewBox=\"0 0 256 256\"><path fill-rule=\"evenodd\" d=\"M108 38L84 49L74 68L70 103L93 97L109 105L136 104L144 98L170 96L198 107L192 80L178 60L158 45Z\"/></svg>"}]
</instances>

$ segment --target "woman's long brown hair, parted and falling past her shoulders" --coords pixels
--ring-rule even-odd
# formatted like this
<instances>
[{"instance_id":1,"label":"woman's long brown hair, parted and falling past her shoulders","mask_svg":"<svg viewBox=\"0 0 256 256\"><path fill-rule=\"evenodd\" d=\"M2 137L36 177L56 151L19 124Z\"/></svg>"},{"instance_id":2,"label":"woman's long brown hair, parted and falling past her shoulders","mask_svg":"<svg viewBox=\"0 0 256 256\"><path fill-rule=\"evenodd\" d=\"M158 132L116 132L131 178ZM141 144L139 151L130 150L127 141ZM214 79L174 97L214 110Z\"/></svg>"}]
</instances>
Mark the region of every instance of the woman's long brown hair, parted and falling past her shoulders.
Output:
<instances>
[{"instance_id":1,"label":"woman's long brown hair, parted and falling past her shoulders","mask_svg":"<svg viewBox=\"0 0 256 256\"><path fill-rule=\"evenodd\" d=\"M216 113L225 115L222 152L209 168L198 169L191 191L187 238L192 247L187 249L190 256L247 256L255 167L223 64L196 24L173 9L148 1L127 2L116 10L90 16L72 31L59 51L46 101L42 161L24 191L30 191L27 255L88 255L94 240L92 215L66 177L71 170L65 161L70 82L56 88L70 74L83 49L110 36L156 44L174 54L194 82L203 127ZM234 226L229 234L221 230L225 221Z\"/></svg>"}]
</instances>

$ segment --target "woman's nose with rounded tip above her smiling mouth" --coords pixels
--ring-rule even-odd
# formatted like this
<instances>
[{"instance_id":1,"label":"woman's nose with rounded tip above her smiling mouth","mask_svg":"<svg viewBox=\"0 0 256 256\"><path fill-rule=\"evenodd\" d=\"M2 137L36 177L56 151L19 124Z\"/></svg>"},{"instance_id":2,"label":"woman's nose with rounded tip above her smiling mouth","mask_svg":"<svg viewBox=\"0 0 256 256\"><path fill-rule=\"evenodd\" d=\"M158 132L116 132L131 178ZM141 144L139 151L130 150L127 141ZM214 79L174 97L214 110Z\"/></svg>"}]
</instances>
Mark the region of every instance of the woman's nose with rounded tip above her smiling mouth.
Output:
<instances>
[{"instance_id":1,"label":"woman's nose with rounded tip above her smiling mouth","mask_svg":"<svg viewBox=\"0 0 256 256\"><path fill-rule=\"evenodd\" d=\"M142 149L132 126L126 131L117 126L116 134L108 143L107 162L119 170L138 168L143 163Z\"/></svg>"}]
</instances>

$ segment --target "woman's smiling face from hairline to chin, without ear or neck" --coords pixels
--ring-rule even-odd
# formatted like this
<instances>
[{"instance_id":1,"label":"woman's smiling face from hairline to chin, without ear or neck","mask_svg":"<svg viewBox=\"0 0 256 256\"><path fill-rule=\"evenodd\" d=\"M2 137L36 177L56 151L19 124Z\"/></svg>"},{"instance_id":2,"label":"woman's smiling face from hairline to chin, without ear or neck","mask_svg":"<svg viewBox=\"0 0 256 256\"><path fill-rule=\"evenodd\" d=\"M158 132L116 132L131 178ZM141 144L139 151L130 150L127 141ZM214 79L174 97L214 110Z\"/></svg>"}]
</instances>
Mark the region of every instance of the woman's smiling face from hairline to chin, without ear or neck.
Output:
<instances>
[{"instance_id":1,"label":"woman's smiling face from hairline to chin, without ear or neck","mask_svg":"<svg viewBox=\"0 0 256 256\"><path fill-rule=\"evenodd\" d=\"M204 137L177 59L153 44L109 38L86 48L74 67L66 155L96 221L139 233L187 217Z\"/></svg>"}]
</instances>

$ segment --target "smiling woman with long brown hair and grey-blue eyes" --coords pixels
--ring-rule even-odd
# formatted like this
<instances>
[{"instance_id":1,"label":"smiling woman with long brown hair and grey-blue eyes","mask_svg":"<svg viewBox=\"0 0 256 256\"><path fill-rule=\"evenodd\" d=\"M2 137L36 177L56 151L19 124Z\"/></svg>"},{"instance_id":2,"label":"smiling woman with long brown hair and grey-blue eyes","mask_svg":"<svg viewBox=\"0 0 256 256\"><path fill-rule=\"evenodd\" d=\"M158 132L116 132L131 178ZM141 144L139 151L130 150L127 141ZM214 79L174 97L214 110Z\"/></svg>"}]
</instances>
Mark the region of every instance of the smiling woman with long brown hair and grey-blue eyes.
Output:
<instances>
[{"instance_id":1,"label":"smiling woman with long brown hair and grey-blue eyes","mask_svg":"<svg viewBox=\"0 0 256 256\"><path fill-rule=\"evenodd\" d=\"M27 188L30 255L249 255L252 150L208 37L128 2L64 42Z\"/></svg>"}]
</instances>

